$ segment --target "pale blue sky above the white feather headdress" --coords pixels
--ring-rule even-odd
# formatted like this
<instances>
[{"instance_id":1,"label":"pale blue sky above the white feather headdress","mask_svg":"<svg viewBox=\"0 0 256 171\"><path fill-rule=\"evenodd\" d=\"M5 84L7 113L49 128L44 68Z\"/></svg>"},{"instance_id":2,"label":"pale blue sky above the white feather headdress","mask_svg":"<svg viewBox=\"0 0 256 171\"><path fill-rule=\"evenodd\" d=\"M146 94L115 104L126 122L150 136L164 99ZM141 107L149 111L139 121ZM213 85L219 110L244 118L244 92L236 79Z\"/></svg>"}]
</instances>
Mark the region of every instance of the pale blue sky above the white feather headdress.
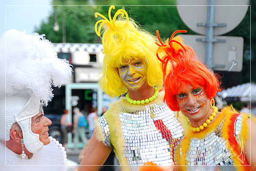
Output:
<instances>
[{"instance_id":1,"label":"pale blue sky above the white feather headdress","mask_svg":"<svg viewBox=\"0 0 256 171\"><path fill-rule=\"evenodd\" d=\"M51 10L51 0L1 0L0 36L10 29L33 33L35 26L46 20Z\"/></svg>"}]
</instances>

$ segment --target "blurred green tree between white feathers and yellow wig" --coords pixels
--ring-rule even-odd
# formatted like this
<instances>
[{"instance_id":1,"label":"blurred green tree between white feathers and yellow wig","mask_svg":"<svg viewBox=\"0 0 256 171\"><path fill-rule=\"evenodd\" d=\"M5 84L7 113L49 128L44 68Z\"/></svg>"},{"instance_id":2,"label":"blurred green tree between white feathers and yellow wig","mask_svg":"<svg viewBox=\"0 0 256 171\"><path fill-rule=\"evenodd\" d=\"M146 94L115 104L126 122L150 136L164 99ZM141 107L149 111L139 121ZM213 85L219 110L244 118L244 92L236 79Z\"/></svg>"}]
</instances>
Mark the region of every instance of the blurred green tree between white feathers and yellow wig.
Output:
<instances>
[{"instance_id":1,"label":"blurred green tree between white feathers and yellow wig","mask_svg":"<svg viewBox=\"0 0 256 171\"><path fill-rule=\"evenodd\" d=\"M53 43L62 43L63 36L68 43L95 43L99 40L94 32L95 11L98 11L96 6L53 6L48 20L43 21L35 32L46 34ZM53 30L56 22L58 31Z\"/></svg>"}]
</instances>

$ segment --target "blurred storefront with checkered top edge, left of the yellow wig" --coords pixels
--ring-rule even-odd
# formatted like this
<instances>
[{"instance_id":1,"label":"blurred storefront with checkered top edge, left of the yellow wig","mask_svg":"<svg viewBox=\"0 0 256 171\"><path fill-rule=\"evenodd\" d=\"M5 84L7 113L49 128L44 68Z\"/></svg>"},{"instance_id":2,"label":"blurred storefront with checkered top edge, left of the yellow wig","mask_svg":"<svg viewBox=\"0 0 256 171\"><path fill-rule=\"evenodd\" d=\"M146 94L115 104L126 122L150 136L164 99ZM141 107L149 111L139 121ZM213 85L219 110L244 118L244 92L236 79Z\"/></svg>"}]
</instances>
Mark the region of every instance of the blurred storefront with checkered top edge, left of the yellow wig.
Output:
<instances>
[{"instance_id":1,"label":"blurred storefront with checkered top edge, left of the yellow wig","mask_svg":"<svg viewBox=\"0 0 256 171\"><path fill-rule=\"evenodd\" d=\"M100 91L97 85L104 58L103 45L100 43L53 43L53 45L58 58L68 60L73 66L73 73L70 83L60 89L53 87L54 98L45 109L46 114L61 115L66 108L69 110L68 119L72 122L73 107L79 107L84 114L90 113L92 107L97 107L100 116L102 109L115 101ZM58 131L55 130L53 134L60 136L61 132ZM72 133L70 132L68 136L68 146L72 148ZM79 148L83 146L83 143L78 145Z\"/></svg>"}]
</instances>

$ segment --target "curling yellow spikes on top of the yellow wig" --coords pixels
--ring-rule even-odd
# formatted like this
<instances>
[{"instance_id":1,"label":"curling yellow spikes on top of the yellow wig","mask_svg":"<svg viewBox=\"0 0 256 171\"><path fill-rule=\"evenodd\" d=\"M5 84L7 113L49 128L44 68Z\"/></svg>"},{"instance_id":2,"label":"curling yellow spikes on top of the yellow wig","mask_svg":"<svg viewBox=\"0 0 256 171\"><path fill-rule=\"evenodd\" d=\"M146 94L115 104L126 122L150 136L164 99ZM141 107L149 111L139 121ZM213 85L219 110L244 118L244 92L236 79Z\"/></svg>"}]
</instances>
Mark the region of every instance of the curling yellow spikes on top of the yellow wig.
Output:
<instances>
[{"instance_id":1,"label":"curling yellow spikes on top of the yellow wig","mask_svg":"<svg viewBox=\"0 0 256 171\"><path fill-rule=\"evenodd\" d=\"M95 18L97 18L98 16L100 16L100 17L103 18L103 20L99 20L99 21L97 21L97 22L95 23L95 32L96 32L97 36L100 36L101 27L102 27L104 24L106 24L106 23L108 23L108 24L113 28L113 30L116 30L116 17L117 17L118 15L120 15L120 14L121 14L121 17L123 17L123 16L125 15L127 23L129 22L128 14L127 14L127 12L126 12L125 10L123 10L123 9L118 9L118 10L116 11L115 16L113 17L113 20L112 20L112 19L111 19L111 10L112 10L112 9L115 9L115 6L114 6L114 5L110 6L110 8L109 8L109 12L108 12L109 20L108 20L105 16L103 16L102 14L100 14L100 13L95 13ZM101 23L100 23L100 22L101 22ZM100 25L99 25L99 28L97 29L97 25L98 25L99 23L100 23Z\"/></svg>"}]
</instances>

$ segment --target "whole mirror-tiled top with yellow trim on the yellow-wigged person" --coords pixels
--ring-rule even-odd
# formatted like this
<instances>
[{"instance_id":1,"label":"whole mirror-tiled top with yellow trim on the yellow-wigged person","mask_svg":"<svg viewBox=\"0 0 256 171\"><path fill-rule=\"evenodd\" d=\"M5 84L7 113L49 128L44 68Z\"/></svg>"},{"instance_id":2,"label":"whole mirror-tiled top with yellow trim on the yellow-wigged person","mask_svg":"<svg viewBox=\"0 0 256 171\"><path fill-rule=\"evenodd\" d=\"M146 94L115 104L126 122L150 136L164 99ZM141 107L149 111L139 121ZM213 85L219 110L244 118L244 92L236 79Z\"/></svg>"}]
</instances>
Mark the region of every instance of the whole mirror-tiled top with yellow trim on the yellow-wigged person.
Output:
<instances>
[{"instance_id":1,"label":"whole mirror-tiled top with yellow trim on the yellow-wigged person","mask_svg":"<svg viewBox=\"0 0 256 171\"><path fill-rule=\"evenodd\" d=\"M132 105L124 98L111 104L98 120L102 141L114 149L121 165L176 165L177 144L183 127L163 103L163 93L146 105Z\"/></svg>"}]
</instances>

